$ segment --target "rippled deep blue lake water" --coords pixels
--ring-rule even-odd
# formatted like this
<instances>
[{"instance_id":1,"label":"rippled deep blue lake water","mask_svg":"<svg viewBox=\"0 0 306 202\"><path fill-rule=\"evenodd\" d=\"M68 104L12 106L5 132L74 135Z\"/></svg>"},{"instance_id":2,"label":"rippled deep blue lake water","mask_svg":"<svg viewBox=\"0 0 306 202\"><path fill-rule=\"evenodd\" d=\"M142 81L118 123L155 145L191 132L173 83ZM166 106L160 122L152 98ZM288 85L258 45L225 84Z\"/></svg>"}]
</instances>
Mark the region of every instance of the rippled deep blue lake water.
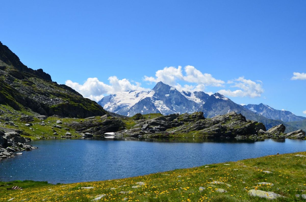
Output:
<instances>
[{"instance_id":1,"label":"rippled deep blue lake water","mask_svg":"<svg viewBox=\"0 0 306 202\"><path fill-rule=\"evenodd\" d=\"M306 150L304 140L52 139L0 161L0 181L99 181Z\"/></svg>"}]
</instances>

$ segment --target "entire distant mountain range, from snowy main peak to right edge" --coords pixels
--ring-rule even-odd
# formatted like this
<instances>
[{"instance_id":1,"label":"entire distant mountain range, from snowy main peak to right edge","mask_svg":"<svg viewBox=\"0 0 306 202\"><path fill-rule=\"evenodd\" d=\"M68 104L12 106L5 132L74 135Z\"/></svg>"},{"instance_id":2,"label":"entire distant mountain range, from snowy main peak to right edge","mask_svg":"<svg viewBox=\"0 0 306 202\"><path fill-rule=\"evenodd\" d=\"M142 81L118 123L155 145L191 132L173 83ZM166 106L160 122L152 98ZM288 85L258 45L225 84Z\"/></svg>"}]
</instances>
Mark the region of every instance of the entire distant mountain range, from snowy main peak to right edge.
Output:
<instances>
[{"instance_id":1,"label":"entire distant mountain range, from snowy main peak to right edge","mask_svg":"<svg viewBox=\"0 0 306 202\"><path fill-rule=\"evenodd\" d=\"M204 117L211 118L235 111L249 120L262 122L267 129L278 124L284 124L286 132L297 130L299 121L306 119L306 117L296 116L289 111L275 110L262 103L241 106L220 93L209 96L201 91L179 92L174 87L162 82L158 82L148 92L134 90L105 96L98 104L107 111L125 116L133 116L137 113L168 115L203 111ZM293 125L285 123L288 121L297 121L298 123Z\"/></svg>"}]
</instances>

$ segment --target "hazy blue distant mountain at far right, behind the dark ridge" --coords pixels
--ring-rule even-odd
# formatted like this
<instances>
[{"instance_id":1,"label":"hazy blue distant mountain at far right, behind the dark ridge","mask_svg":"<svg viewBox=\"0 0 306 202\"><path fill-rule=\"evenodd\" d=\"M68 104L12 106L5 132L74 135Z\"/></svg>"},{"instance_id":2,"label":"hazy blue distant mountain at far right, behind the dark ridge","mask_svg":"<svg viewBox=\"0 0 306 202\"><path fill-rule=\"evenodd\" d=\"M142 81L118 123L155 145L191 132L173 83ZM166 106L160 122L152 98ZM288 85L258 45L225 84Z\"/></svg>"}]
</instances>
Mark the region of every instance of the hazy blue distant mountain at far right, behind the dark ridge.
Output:
<instances>
[{"instance_id":1,"label":"hazy blue distant mountain at far right, behind the dark ridge","mask_svg":"<svg viewBox=\"0 0 306 202\"><path fill-rule=\"evenodd\" d=\"M256 114L263 115L264 117L281 120L284 122L289 121L303 121L306 117L301 117L294 115L293 113L286 110L276 110L272 107L265 105L263 103L260 104L248 104L244 106L246 109L253 111Z\"/></svg>"}]
</instances>

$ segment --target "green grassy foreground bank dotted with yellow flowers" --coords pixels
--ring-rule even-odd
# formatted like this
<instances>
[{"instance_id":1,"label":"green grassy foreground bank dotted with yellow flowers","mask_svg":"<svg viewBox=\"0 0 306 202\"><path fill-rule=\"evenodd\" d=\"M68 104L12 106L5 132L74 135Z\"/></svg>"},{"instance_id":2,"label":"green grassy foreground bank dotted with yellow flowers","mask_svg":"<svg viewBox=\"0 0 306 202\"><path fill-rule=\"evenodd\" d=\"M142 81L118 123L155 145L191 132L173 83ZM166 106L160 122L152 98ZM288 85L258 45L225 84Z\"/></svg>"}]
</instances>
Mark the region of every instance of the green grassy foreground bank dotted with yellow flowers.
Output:
<instances>
[{"instance_id":1,"label":"green grassy foreground bank dotted with yellow flowers","mask_svg":"<svg viewBox=\"0 0 306 202\"><path fill-rule=\"evenodd\" d=\"M306 157L297 153L271 155L236 162L211 164L188 169L177 169L163 173L110 181L82 182L51 185L46 182L14 181L0 183L0 201L91 201L97 195L105 194L100 201L271 201L251 197L248 190L259 189L281 194L284 198L272 201L302 201L296 194L306 194ZM306 152L298 154L306 155ZM271 174L262 171L271 171ZM179 175L181 177L179 177ZM225 182L231 187L210 184ZM145 185L133 189L136 182ZM274 186L259 186L258 182L273 183ZM9 184L9 186L6 186ZM1 186L4 185L4 186ZM21 186L24 190L6 190L10 186ZM79 189L92 186L93 189ZM205 187L200 192L199 187ZM110 189L115 188L115 189ZM217 188L227 193L218 193ZM124 193L122 193L122 191ZM121 193L120 193L121 192ZM304 200L305 201L305 200Z\"/></svg>"}]
</instances>

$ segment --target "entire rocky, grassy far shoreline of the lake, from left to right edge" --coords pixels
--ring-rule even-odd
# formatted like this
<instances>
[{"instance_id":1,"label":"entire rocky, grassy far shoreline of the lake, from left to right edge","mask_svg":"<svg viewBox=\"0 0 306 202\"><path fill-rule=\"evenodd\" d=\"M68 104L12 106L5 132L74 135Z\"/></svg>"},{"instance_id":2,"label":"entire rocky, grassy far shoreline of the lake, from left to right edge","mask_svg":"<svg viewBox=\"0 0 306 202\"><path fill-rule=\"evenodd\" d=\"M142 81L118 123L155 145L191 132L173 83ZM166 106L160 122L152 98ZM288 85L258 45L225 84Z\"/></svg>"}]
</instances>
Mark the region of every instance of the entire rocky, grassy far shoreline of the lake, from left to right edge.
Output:
<instances>
[{"instance_id":1,"label":"entire rocky, grassy far shoreline of the lake, from left to right edge","mask_svg":"<svg viewBox=\"0 0 306 202\"><path fill-rule=\"evenodd\" d=\"M52 119L50 120L50 118ZM36 149L27 142L48 138L305 139L303 130L285 133L283 124L266 130L264 124L246 120L244 116L235 112L210 119L204 118L203 112L161 115L154 118L151 118L151 115L141 114L136 114L133 118L118 117L112 114L85 119L69 119L58 116L50 118L23 115L19 118L23 125L22 122L19 122L17 123L19 126L6 118L4 125L10 125L17 129L0 127L0 159L13 157L14 152L17 151ZM39 122L34 122L35 119L39 119ZM31 127L35 127L35 129ZM42 128L45 132L36 131L42 130ZM33 135L29 133L33 133ZM37 136L39 133L41 133L40 136ZM22 136L31 136L32 139Z\"/></svg>"}]
</instances>

